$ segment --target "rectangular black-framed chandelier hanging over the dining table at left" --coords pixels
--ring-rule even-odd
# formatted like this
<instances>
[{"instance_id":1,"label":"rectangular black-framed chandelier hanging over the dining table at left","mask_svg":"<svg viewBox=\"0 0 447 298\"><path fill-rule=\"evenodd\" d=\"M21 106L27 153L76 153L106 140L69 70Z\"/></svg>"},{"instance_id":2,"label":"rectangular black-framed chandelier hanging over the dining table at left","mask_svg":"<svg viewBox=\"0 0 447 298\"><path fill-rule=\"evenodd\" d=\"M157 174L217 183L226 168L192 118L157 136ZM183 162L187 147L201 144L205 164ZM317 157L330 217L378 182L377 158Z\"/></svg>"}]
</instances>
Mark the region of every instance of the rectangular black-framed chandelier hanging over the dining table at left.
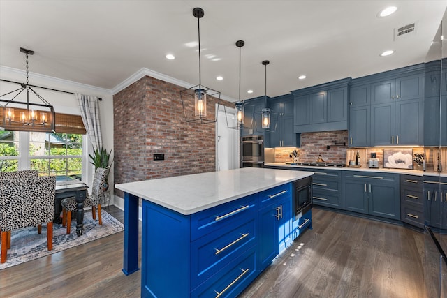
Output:
<instances>
[{"instance_id":1,"label":"rectangular black-framed chandelier hanging over the dining table at left","mask_svg":"<svg viewBox=\"0 0 447 298\"><path fill-rule=\"evenodd\" d=\"M5 103L0 108L0 125L8 131L52 132L54 131L54 107L29 85L28 55L34 54L34 51L20 47L20 52L26 57L27 82L20 84L19 89L0 96L0 103ZM26 98L20 98L20 100L19 95L23 91ZM31 95L34 94L41 102L30 102L30 91Z\"/></svg>"}]
</instances>

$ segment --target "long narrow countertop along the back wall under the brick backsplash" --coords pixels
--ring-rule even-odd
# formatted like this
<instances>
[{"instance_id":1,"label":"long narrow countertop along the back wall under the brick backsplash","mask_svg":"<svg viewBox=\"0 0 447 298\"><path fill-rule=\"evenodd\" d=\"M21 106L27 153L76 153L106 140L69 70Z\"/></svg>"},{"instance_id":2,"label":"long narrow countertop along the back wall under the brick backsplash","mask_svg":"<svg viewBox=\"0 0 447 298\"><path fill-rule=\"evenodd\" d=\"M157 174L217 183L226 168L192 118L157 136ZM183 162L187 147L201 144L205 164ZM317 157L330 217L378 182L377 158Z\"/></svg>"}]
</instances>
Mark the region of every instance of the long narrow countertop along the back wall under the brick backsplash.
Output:
<instances>
[{"instance_id":1,"label":"long narrow countertop along the back wall under the brick backsplash","mask_svg":"<svg viewBox=\"0 0 447 298\"><path fill-rule=\"evenodd\" d=\"M342 170L342 171L360 171L360 172L379 172L379 173L395 173L395 174L409 174L409 175L416 175L416 176L441 176L441 177L447 177L447 172L441 172L439 174L438 172L427 172L427 171L420 171L420 170L404 170L404 169L384 169L383 167L379 167L378 169L372 169L369 167L324 167L324 166L309 166L309 165L289 165L287 163L266 163L266 166L271 167L291 167L291 168L300 168L305 167L307 169L312 168L317 170L318 168L324 169L324 170Z\"/></svg>"}]
</instances>

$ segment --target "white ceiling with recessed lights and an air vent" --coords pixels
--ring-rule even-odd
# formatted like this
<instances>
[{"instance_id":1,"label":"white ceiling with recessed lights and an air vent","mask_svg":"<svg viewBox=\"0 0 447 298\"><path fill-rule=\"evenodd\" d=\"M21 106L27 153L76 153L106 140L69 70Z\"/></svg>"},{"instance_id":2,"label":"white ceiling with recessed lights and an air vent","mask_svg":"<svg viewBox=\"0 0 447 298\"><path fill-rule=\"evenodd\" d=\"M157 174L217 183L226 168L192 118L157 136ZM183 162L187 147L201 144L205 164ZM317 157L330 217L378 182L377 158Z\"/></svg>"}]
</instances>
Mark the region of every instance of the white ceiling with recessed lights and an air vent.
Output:
<instances>
[{"instance_id":1,"label":"white ceiling with recessed lights and an air vent","mask_svg":"<svg viewBox=\"0 0 447 298\"><path fill-rule=\"evenodd\" d=\"M397 12L377 17L389 5ZM25 47L35 52L30 72L112 91L142 68L196 85L197 47L186 46L198 40L195 7L205 11L202 84L237 100L235 42L244 40L244 100L265 94L265 59L270 97L424 62L447 1L0 0L0 66L24 70ZM416 33L394 40L394 30L412 22ZM390 49L395 54L379 57Z\"/></svg>"}]
</instances>

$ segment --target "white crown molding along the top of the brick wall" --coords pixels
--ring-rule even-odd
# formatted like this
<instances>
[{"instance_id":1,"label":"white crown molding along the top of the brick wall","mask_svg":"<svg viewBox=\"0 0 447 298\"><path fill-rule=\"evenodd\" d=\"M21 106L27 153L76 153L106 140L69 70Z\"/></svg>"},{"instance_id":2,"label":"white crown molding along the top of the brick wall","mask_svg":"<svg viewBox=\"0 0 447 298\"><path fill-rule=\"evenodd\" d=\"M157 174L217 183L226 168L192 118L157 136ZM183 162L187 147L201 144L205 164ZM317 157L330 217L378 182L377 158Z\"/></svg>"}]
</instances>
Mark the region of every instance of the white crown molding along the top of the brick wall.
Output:
<instances>
[{"instance_id":1,"label":"white crown molding along the top of the brick wall","mask_svg":"<svg viewBox=\"0 0 447 298\"><path fill-rule=\"evenodd\" d=\"M191 88L191 87L196 86L195 84L190 84L189 82L184 82L182 80L178 80L175 77L163 75L163 73L157 73L156 71L150 70L149 68L141 68L136 73L134 73L133 75L128 77L126 80L117 84L117 86L112 89L112 94L113 95L117 94L119 91L126 89L131 84L137 82L138 80L140 80L142 77L145 77L145 76L154 77L154 79L162 80L163 82L175 84L177 86L184 87L184 88ZM235 103L237 101L235 98L231 98L229 96L225 96L222 94L221 94L221 99L229 101L230 103Z\"/></svg>"}]
</instances>

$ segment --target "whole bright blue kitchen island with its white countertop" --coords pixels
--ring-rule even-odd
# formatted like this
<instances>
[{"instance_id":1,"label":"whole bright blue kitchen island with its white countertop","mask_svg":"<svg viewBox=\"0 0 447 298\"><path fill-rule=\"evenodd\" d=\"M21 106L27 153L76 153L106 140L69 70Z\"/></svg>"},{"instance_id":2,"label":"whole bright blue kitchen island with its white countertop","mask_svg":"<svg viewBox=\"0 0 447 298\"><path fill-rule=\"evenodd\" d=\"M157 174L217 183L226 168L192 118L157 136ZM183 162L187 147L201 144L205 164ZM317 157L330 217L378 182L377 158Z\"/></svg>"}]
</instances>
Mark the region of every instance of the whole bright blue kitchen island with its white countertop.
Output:
<instances>
[{"instance_id":1,"label":"whole bright blue kitchen island with its white countertop","mask_svg":"<svg viewBox=\"0 0 447 298\"><path fill-rule=\"evenodd\" d=\"M124 274L142 297L235 297L306 228L294 182L312 172L246 167L117 184L124 191Z\"/></svg>"}]
</instances>

